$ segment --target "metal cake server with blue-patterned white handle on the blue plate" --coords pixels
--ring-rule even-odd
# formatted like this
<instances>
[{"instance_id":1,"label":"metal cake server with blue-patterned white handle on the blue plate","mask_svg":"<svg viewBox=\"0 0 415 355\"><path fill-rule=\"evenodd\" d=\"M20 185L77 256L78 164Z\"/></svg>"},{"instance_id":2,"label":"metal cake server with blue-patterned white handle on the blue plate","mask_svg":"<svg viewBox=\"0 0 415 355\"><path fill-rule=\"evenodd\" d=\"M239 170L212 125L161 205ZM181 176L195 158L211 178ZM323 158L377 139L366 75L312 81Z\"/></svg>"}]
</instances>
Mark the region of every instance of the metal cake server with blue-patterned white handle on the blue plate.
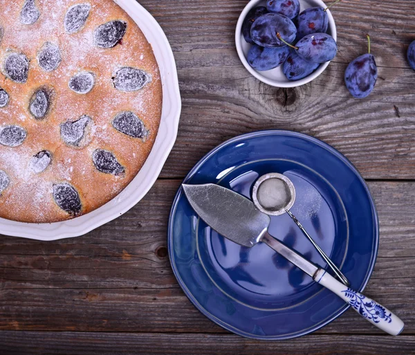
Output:
<instances>
[{"instance_id":1,"label":"metal cake server with blue-patterned white handle on the blue plate","mask_svg":"<svg viewBox=\"0 0 415 355\"><path fill-rule=\"evenodd\" d=\"M215 184L185 185L183 190L195 212L223 237L251 248L265 243L313 280L351 305L360 316L391 335L403 331L403 321L394 313L365 295L345 286L322 268L288 248L268 233L270 217L255 208L252 201Z\"/></svg>"}]
</instances>

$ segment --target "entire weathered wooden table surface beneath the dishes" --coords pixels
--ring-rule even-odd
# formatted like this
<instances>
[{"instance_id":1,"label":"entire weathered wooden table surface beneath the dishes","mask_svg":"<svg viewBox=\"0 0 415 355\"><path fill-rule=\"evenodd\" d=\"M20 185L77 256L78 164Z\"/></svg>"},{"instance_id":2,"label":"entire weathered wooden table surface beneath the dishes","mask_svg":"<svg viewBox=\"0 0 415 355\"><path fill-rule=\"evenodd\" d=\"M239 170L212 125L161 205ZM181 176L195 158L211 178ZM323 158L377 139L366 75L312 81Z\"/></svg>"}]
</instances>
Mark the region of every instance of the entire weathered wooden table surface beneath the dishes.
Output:
<instances>
[{"instance_id":1,"label":"entire weathered wooden table surface beneath the dishes","mask_svg":"<svg viewBox=\"0 0 415 355\"><path fill-rule=\"evenodd\" d=\"M262 84L243 68L234 28L246 0L141 0L165 30L183 96L177 143L147 197L75 239L0 236L0 354L415 354L415 1L344 0L333 9L339 52L312 83ZM372 39L379 79L354 100L347 63ZM380 249L366 293L406 323L387 336L352 310L283 342L233 335L197 311L169 265L167 219L181 180L210 149L258 129L333 145L374 195Z\"/></svg>"}]
</instances>

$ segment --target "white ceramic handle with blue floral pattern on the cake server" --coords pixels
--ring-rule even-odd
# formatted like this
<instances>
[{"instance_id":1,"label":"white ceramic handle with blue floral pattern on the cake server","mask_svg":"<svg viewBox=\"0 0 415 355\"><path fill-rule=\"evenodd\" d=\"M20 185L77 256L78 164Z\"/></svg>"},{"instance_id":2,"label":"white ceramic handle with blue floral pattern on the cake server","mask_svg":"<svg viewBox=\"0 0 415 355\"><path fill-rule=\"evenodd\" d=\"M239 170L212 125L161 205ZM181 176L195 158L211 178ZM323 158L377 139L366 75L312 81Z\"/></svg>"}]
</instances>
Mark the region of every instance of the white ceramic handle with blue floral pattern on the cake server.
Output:
<instances>
[{"instance_id":1,"label":"white ceramic handle with blue floral pattern on the cake server","mask_svg":"<svg viewBox=\"0 0 415 355\"><path fill-rule=\"evenodd\" d=\"M378 304L378 302L344 286L344 284L335 280L335 278L329 273L326 273L326 271L320 269L316 273L314 280L330 291L333 291L336 295L349 303L360 316L366 318L373 325L376 325L376 327L386 331L388 334L396 336L403 331L404 324L398 316L381 304Z\"/></svg>"}]
</instances>

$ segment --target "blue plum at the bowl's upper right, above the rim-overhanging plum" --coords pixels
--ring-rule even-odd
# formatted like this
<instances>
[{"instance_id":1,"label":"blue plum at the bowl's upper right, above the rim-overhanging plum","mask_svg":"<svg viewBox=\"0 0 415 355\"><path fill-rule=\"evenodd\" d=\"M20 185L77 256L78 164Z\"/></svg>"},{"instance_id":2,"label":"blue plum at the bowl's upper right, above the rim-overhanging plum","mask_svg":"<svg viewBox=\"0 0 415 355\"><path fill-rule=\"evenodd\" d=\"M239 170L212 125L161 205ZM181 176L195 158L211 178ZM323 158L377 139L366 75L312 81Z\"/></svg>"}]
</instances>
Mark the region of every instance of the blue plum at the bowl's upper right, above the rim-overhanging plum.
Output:
<instances>
[{"instance_id":1,"label":"blue plum at the bowl's upper right, above the rim-overhanging plum","mask_svg":"<svg viewBox=\"0 0 415 355\"><path fill-rule=\"evenodd\" d=\"M302 39L311 33L326 33L329 28L329 17L324 8L308 8L298 15L297 38Z\"/></svg>"}]
</instances>

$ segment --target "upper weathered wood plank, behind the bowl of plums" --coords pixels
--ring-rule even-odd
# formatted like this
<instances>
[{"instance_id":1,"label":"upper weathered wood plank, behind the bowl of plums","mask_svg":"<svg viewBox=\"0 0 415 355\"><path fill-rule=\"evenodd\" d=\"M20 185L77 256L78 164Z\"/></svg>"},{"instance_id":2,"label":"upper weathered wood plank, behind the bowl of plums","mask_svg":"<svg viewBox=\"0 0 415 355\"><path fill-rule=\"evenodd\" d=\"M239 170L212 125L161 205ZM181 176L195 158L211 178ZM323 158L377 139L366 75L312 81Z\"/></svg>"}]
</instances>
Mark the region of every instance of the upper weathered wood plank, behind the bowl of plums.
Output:
<instances>
[{"instance_id":1,"label":"upper weathered wood plank, behind the bowl of plums","mask_svg":"<svg viewBox=\"0 0 415 355\"><path fill-rule=\"evenodd\" d=\"M415 39L415 24L407 21L415 16L411 1L338 3L338 56L320 78L289 90L262 84L239 61L234 29L246 0L140 3L167 33L183 96L178 141L162 176L185 176L228 138L289 129L333 145L367 179L415 178L415 73L405 59ZM344 87L344 69L365 53L365 33L372 36L380 79L369 98L355 100Z\"/></svg>"}]
</instances>

